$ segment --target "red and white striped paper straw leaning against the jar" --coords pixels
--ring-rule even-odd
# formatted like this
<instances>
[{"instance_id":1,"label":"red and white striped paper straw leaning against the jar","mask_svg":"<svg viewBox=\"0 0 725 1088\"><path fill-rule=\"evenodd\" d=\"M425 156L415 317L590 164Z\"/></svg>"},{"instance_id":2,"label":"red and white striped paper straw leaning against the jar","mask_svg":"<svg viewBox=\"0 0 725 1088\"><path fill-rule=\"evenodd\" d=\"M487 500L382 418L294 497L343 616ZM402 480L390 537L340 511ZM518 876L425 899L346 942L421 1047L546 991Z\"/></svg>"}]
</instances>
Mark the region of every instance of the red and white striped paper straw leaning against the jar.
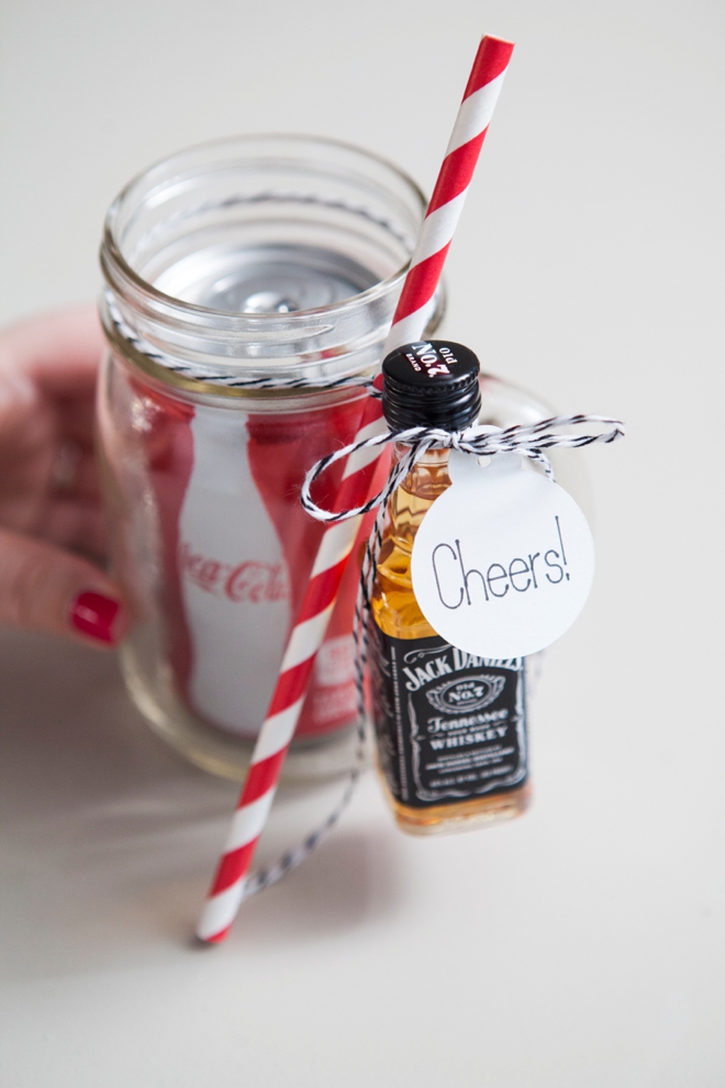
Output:
<instances>
[{"instance_id":1,"label":"red and white striped paper straw leaning against the jar","mask_svg":"<svg viewBox=\"0 0 725 1088\"><path fill-rule=\"evenodd\" d=\"M420 340L425 331L443 265L512 51L510 42L495 37L487 36L479 45L393 315L383 358L394 347ZM361 442L383 430L380 401L370 398L354 441ZM336 510L357 507L366 501L379 457L378 449L361 449L347 459L335 498ZM359 518L338 522L327 526L322 537L224 853L197 929L202 941L219 943L225 939L244 898L244 885L254 852L271 809L285 756L297 728L315 657L324 641L359 525Z\"/></svg>"}]
</instances>

